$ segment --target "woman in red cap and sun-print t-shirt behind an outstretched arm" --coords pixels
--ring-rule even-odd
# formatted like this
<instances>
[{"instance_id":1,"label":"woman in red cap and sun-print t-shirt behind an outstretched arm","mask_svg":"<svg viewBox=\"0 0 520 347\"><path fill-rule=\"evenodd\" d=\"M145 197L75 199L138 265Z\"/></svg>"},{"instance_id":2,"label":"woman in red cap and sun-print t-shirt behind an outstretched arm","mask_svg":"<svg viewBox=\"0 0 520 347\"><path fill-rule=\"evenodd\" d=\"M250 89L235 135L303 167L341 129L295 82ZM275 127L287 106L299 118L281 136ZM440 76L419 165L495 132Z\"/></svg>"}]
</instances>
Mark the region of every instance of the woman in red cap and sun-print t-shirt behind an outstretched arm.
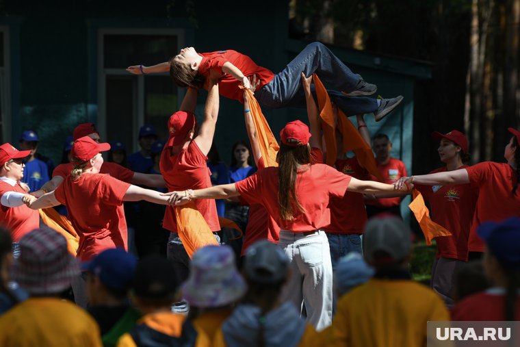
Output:
<instances>
[{"instance_id":1,"label":"woman in red cap and sun-print t-shirt behind an outstretched arm","mask_svg":"<svg viewBox=\"0 0 520 347\"><path fill-rule=\"evenodd\" d=\"M458 130L449 133L432 133L439 140L439 157L445 164L430 173L453 171L468 168L467 138ZM430 285L451 307L453 300L453 276L456 270L468 261L468 251L482 252L484 244L475 237L471 242L470 227L478 190L466 184L415 185L425 201L430 203L432 220L452 232L452 236L436 237L437 253L432 266ZM477 243L477 244L476 244ZM473 248L471 248L473 247ZM482 248L480 248L482 247Z\"/></svg>"}]
</instances>

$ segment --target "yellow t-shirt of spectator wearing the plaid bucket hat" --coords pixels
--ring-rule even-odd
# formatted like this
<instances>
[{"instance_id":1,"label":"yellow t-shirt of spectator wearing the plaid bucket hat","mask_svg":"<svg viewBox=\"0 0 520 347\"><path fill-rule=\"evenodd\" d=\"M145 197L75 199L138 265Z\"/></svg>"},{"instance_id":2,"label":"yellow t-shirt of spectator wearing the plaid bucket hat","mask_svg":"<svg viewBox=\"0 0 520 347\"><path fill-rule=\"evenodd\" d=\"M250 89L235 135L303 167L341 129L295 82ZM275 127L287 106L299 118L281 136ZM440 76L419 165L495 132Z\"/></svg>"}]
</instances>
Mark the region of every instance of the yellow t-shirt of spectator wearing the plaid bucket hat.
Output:
<instances>
[{"instance_id":1,"label":"yellow t-shirt of spectator wearing the plaid bucket hat","mask_svg":"<svg viewBox=\"0 0 520 347\"><path fill-rule=\"evenodd\" d=\"M29 298L0 316L0 346L101 347L99 326L59 298Z\"/></svg>"}]
</instances>

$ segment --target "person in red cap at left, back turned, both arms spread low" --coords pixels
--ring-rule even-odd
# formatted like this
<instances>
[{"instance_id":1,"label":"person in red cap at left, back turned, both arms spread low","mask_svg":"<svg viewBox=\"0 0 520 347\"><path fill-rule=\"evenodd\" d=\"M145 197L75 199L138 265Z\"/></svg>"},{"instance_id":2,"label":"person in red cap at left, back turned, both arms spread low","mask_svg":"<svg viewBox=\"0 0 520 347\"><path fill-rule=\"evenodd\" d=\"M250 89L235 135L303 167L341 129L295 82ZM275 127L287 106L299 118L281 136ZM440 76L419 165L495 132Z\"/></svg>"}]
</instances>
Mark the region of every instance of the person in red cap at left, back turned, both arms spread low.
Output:
<instances>
[{"instance_id":1,"label":"person in red cap at left, back turned, both arms spread low","mask_svg":"<svg viewBox=\"0 0 520 347\"><path fill-rule=\"evenodd\" d=\"M108 248L128 250L124 201L168 203L168 198L155 190L140 188L110 175L100 175L103 165L101 152L109 149L109 144L95 142L89 136L75 140L71 151L71 174L53 192L38 199L30 196L26 201L31 209L60 204L67 207L68 219L79 235L77 257L81 261L90 261ZM82 300L85 298L77 298L77 303L86 304Z\"/></svg>"}]
</instances>

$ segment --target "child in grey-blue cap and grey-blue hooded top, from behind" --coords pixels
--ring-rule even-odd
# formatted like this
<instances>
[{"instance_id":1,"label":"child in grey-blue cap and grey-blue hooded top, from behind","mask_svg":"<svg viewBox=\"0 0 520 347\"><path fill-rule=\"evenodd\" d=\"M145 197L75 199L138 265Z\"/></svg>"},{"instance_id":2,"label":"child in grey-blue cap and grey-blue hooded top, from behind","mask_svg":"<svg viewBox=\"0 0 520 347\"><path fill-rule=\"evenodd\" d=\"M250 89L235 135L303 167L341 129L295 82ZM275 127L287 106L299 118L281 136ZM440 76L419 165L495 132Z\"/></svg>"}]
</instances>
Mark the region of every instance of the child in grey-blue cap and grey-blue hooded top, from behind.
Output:
<instances>
[{"instance_id":1,"label":"child in grey-blue cap and grey-blue hooded top, from behind","mask_svg":"<svg viewBox=\"0 0 520 347\"><path fill-rule=\"evenodd\" d=\"M222 325L216 346L297 346L304 334L315 334L300 312L279 297L289 274L289 258L281 247L268 240L256 242L244 257L248 292Z\"/></svg>"}]
</instances>

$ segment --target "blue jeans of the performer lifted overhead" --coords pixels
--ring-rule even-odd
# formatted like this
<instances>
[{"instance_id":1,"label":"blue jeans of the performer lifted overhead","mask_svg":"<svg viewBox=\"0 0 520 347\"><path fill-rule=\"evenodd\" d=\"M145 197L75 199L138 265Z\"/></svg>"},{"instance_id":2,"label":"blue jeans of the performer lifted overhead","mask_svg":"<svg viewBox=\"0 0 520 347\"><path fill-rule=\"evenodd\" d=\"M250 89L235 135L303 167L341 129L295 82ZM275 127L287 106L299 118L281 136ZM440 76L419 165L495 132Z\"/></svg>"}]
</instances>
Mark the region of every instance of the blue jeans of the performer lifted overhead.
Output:
<instances>
[{"instance_id":1,"label":"blue jeans of the performer lifted overhead","mask_svg":"<svg viewBox=\"0 0 520 347\"><path fill-rule=\"evenodd\" d=\"M359 83L359 77L327 47L320 42L313 42L289 62L281 73L274 75L272 81L255 92L258 103L270 108L307 107L303 88L300 87L301 73L306 76L316 73L322 82L343 92L351 92ZM372 113L378 108L377 99L374 98L346 97L336 90L328 90L328 94L347 116Z\"/></svg>"}]
</instances>

